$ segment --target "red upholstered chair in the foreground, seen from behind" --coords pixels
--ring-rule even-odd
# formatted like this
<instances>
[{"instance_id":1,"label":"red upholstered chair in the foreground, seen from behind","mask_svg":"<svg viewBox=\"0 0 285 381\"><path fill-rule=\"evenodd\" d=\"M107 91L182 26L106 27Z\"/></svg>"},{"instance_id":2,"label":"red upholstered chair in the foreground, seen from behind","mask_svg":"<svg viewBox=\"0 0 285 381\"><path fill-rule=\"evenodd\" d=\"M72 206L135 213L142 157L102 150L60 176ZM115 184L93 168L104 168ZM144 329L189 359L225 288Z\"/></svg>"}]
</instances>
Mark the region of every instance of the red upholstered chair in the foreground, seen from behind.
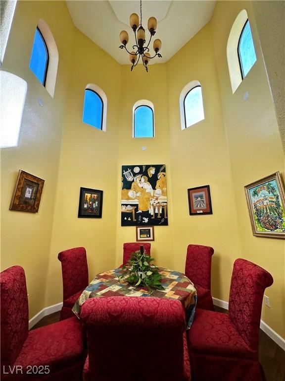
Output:
<instances>
[{"instance_id":1,"label":"red upholstered chair in the foreground, seen from behind","mask_svg":"<svg viewBox=\"0 0 285 381\"><path fill-rule=\"evenodd\" d=\"M189 381L185 311L174 299L91 298L85 381Z\"/></svg>"}]
</instances>

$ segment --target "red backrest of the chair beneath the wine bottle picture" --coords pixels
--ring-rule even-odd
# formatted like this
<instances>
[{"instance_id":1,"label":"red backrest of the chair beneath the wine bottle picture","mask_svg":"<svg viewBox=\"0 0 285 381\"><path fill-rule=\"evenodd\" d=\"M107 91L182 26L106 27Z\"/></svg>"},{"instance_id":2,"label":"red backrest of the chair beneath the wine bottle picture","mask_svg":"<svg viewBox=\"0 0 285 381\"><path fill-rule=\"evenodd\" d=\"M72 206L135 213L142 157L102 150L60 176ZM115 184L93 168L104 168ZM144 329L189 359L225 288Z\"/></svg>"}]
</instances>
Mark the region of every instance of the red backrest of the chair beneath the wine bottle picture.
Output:
<instances>
[{"instance_id":1,"label":"red backrest of the chair beneath the wine bottle picture","mask_svg":"<svg viewBox=\"0 0 285 381\"><path fill-rule=\"evenodd\" d=\"M88 286L88 265L85 248L64 250L58 254L61 262L63 300Z\"/></svg>"}]
</instances>

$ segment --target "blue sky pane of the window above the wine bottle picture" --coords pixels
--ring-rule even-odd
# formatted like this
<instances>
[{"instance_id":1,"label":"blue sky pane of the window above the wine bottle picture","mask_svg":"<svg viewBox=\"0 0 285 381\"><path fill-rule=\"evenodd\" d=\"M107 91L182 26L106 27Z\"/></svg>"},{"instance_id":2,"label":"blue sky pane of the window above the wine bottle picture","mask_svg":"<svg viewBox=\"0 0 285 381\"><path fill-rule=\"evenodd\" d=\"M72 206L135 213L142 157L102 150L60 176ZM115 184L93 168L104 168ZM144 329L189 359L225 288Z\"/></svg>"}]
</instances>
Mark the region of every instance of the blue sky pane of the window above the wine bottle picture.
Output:
<instances>
[{"instance_id":1,"label":"blue sky pane of the window above the wine bottle picture","mask_svg":"<svg viewBox=\"0 0 285 381\"><path fill-rule=\"evenodd\" d=\"M83 122L98 129L102 129L103 102L99 95L90 89L85 90Z\"/></svg>"}]
</instances>

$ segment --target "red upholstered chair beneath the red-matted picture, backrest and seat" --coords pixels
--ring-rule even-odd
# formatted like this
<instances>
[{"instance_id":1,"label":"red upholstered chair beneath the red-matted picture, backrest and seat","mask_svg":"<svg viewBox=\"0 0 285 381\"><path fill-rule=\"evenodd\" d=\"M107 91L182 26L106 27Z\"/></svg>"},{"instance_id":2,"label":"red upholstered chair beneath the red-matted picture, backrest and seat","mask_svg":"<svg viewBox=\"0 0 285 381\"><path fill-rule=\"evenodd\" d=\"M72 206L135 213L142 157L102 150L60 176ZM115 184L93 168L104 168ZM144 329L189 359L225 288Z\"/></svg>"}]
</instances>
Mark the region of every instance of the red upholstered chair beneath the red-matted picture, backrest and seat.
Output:
<instances>
[{"instance_id":1,"label":"red upholstered chair beneath the red-matted picture, backrest and seat","mask_svg":"<svg viewBox=\"0 0 285 381\"><path fill-rule=\"evenodd\" d=\"M211 264L214 249L209 246L188 245L185 275L197 290L197 308L214 311L211 295Z\"/></svg>"}]
</instances>

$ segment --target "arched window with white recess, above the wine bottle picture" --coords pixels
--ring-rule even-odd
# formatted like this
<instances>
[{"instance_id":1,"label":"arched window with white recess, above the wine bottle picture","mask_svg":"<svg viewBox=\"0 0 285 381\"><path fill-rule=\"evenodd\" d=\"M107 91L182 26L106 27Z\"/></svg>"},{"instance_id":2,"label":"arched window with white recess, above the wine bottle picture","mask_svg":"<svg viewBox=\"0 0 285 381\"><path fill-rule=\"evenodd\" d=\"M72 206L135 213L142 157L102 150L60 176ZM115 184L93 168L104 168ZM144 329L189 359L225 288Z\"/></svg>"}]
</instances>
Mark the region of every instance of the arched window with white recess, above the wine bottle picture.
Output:
<instances>
[{"instance_id":1,"label":"arched window with white recess, above the wine bottle picture","mask_svg":"<svg viewBox=\"0 0 285 381\"><path fill-rule=\"evenodd\" d=\"M106 131L107 97L95 84L86 86L82 121L97 129Z\"/></svg>"}]
</instances>

